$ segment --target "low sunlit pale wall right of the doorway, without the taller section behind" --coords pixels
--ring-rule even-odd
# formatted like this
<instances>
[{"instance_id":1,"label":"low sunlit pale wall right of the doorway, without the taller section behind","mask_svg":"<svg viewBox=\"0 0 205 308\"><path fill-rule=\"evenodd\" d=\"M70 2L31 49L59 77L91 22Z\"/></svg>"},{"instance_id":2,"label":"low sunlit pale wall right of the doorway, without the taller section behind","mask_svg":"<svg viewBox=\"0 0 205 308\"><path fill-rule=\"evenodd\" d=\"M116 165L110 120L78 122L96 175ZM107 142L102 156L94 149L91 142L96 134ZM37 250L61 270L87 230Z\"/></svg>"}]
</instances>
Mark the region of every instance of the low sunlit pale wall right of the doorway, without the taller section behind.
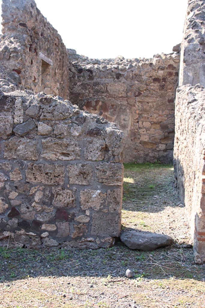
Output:
<instances>
[{"instance_id":1,"label":"low sunlit pale wall right of the doorway, without the taller section behind","mask_svg":"<svg viewBox=\"0 0 205 308\"><path fill-rule=\"evenodd\" d=\"M174 169L186 205L197 263L205 262L205 128L203 87L181 86L175 102Z\"/></svg>"}]
</instances>

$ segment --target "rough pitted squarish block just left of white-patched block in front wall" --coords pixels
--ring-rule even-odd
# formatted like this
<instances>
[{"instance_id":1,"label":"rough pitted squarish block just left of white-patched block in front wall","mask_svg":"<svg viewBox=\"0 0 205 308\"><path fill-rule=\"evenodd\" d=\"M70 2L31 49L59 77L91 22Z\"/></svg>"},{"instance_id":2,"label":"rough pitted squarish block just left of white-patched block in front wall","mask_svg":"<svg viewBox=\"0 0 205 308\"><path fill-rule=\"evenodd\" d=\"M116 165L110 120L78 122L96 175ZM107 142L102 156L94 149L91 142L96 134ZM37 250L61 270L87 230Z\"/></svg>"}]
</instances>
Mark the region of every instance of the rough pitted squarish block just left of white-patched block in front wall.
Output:
<instances>
[{"instance_id":1,"label":"rough pitted squarish block just left of white-patched block in front wall","mask_svg":"<svg viewBox=\"0 0 205 308\"><path fill-rule=\"evenodd\" d=\"M54 194L53 206L60 208L75 207L75 196L70 189L52 188Z\"/></svg>"}]
</instances>

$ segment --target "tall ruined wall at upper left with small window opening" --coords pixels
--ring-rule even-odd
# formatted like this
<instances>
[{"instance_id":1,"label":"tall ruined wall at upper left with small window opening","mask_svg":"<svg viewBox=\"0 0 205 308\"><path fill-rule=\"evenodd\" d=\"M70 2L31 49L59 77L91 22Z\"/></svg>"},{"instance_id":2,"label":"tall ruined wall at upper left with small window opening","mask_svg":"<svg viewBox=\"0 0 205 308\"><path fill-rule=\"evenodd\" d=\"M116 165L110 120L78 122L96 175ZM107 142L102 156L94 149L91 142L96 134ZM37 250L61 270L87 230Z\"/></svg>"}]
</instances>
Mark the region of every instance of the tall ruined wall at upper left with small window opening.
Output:
<instances>
[{"instance_id":1,"label":"tall ruined wall at upper left with small window opening","mask_svg":"<svg viewBox=\"0 0 205 308\"><path fill-rule=\"evenodd\" d=\"M68 98L68 61L65 45L33 0L2 1L0 88ZM10 80L11 79L11 82Z\"/></svg>"}]
</instances>

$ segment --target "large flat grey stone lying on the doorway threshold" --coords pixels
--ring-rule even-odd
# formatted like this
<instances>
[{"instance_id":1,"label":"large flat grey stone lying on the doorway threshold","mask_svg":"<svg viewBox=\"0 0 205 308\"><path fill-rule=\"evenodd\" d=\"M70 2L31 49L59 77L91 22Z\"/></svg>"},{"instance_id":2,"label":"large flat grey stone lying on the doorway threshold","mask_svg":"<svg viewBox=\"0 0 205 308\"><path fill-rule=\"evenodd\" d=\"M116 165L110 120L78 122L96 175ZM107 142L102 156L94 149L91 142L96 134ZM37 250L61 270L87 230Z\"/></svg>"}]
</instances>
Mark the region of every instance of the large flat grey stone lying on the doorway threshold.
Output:
<instances>
[{"instance_id":1,"label":"large flat grey stone lying on the doorway threshold","mask_svg":"<svg viewBox=\"0 0 205 308\"><path fill-rule=\"evenodd\" d=\"M120 233L120 240L130 249L154 250L168 246L172 238L165 234L124 230Z\"/></svg>"}]
</instances>

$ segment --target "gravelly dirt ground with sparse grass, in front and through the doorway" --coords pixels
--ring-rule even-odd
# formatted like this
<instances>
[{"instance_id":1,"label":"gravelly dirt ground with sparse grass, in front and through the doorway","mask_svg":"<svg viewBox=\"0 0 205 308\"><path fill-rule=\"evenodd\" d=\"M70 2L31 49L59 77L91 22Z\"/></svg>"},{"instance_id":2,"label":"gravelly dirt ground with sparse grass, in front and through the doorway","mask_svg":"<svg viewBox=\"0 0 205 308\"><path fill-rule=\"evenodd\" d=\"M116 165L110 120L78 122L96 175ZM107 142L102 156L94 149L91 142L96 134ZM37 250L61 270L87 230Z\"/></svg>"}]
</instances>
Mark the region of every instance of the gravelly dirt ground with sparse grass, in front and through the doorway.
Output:
<instances>
[{"instance_id":1,"label":"gravelly dirt ground with sparse grass, in front and through the doorway","mask_svg":"<svg viewBox=\"0 0 205 308\"><path fill-rule=\"evenodd\" d=\"M172 166L125 165L124 227L174 242L148 252L120 241L98 250L0 248L0 308L204 308L205 265L194 263Z\"/></svg>"}]
</instances>

